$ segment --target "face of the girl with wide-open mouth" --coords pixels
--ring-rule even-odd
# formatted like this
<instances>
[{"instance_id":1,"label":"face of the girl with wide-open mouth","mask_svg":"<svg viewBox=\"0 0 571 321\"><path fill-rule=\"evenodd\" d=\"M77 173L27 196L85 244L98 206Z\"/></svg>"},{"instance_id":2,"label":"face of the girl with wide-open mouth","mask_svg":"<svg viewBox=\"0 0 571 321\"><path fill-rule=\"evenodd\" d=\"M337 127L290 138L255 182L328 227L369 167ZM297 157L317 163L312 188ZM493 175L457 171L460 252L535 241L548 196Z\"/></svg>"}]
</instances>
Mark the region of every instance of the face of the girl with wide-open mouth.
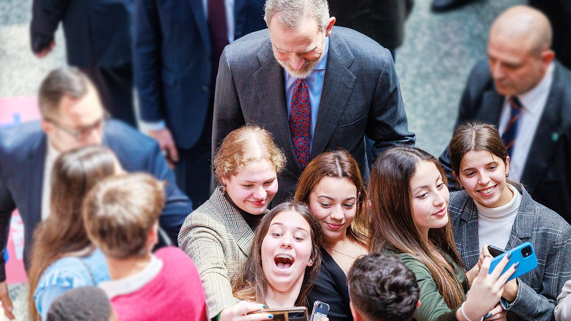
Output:
<instances>
[{"instance_id":1,"label":"face of the girl with wide-open mouth","mask_svg":"<svg viewBox=\"0 0 571 321\"><path fill-rule=\"evenodd\" d=\"M275 216L262 240L262 270L268 287L278 292L301 286L310 262L311 227L299 213L284 211Z\"/></svg>"}]
</instances>

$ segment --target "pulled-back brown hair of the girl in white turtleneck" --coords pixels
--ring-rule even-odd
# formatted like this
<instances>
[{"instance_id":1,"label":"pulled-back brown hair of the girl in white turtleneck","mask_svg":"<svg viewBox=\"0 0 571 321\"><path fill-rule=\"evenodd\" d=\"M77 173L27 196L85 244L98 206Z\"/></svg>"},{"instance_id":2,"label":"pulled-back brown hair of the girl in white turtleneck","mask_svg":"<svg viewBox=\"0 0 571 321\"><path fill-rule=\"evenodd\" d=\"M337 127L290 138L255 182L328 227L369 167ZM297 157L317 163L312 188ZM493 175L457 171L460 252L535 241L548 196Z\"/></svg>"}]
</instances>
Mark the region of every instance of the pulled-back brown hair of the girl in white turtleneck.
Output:
<instances>
[{"instance_id":1,"label":"pulled-back brown hair of the girl in white turtleneck","mask_svg":"<svg viewBox=\"0 0 571 321\"><path fill-rule=\"evenodd\" d=\"M496 126L486 123L467 123L456 130L450 141L450 164L459 183L460 164L464 155L469 151L480 150L496 155L507 166L508 151L505 149L504 141ZM510 180L507 182L512 183Z\"/></svg>"}]
</instances>

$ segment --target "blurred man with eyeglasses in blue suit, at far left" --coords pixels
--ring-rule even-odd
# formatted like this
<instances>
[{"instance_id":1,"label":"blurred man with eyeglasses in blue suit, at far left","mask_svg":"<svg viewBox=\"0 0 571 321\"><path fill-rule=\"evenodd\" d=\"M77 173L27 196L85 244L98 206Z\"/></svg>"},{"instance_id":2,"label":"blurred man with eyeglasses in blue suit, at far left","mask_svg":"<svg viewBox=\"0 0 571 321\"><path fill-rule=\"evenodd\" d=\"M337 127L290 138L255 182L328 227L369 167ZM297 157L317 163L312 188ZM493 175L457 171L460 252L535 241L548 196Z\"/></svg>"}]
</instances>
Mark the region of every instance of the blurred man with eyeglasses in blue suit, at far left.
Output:
<instances>
[{"instance_id":1,"label":"blurred man with eyeglasses in blue suit, at far left","mask_svg":"<svg viewBox=\"0 0 571 321\"><path fill-rule=\"evenodd\" d=\"M50 214L50 176L55 159L86 145L107 146L127 172L148 172L168 182L159 224L176 244L192 203L176 186L174 173L154 139L122 122L108 120L94 85L75 68L51 71L42 82L38 102L41 122L0 129L0 246L6 247L10 217L18 208L25 226L26 262L34 228ZM6 316L12 319L3 251L0 300Z\"/></svg>"}]
</instances>

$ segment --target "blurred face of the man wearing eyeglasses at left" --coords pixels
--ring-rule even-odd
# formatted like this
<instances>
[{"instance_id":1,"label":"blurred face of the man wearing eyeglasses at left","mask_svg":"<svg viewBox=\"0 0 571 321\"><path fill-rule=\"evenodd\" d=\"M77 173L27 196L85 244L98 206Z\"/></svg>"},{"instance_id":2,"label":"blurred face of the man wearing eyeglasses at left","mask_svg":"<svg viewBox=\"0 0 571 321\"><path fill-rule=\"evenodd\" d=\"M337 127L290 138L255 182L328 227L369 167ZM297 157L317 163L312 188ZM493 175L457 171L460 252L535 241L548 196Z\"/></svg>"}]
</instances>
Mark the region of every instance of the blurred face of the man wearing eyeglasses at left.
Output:
<instances>
[{"instance_id":1,"label":"blurred face of the man wearing eyeglasses at left","mask_svg":"<svg viewBox=\"0 0 571 321\"><path fill-rule=\"evenodd\" d=\"M93 86L82 98L64 95L57 116L42 121L50 143L61 153L87 145L100 145L103 139L103 106ZM57 119L56 119L57 118Z\"/></svg>"}]
</instances>

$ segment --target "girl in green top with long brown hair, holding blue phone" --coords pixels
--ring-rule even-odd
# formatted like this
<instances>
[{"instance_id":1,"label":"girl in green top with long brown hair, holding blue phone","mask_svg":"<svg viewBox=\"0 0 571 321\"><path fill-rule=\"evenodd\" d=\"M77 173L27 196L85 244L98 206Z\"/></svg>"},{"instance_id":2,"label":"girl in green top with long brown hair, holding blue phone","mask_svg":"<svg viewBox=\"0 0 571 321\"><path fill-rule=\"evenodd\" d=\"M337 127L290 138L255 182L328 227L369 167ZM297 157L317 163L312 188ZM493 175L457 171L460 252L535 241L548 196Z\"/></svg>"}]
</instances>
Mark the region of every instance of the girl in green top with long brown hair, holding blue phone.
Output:
<instances>
[{"instance_id":1,"label":"girl in green top with long brown hair, holding blue phone","mask_svg":"<svg viewBox=\"0 0 571 321\"><path fill-rule=\"evenodd\" d=\"M506 319L498 302L516 267L500 275L508 263L504 258L488 274L491 258L486 256L480 271L476 265L469 272L477 276L468 284L449 222L446 176L436 158L414 147L384 151L367 194L369 253L396 254L415 272L421 302L415 320Z\"/></svg>"}]
</instances>

